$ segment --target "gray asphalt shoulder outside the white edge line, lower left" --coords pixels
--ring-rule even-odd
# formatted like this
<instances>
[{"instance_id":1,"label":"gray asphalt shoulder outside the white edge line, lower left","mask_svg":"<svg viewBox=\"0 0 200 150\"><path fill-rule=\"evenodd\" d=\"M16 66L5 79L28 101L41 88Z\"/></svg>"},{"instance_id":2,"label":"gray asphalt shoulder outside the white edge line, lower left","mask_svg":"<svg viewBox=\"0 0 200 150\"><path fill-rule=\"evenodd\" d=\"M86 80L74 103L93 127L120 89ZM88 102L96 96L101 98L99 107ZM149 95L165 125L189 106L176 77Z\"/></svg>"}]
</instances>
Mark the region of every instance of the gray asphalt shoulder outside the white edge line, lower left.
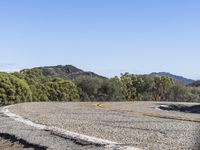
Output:
<instances>
[{"instance_id":1,"label":"gray asphalt shoulder outside the white edge line, lower left","mask_svg":"<svg viewBox=\"0 0 200 150\"><path fill-rule=\"evenodd\" d=\"M6 137L6 139L5 139ZM15 141L15 142L13 142ZM62 138L49 131L16 122L3 115L0 108L0 149L4 150L102 150L102 146Z\"/></svg>"}]
</instances>

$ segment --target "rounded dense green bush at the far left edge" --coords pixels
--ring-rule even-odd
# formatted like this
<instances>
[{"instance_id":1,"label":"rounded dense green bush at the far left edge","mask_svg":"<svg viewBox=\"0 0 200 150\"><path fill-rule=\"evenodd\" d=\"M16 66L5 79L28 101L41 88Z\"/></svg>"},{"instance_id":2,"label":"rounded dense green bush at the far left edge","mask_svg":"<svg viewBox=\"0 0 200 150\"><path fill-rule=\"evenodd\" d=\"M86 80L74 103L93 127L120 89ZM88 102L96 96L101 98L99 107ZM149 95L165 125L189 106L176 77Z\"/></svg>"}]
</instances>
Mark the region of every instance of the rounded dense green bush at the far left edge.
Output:
<instances>
[{"instance_id":1,"label":"rounded dense green bush at the far left edge","mask_svg":"<svg viewBox=\"0 0 200 150\"><path fill-rule=\"evenodd\" d=\"M32 92L26 81L8 73L0 73L0 105L32 100Z\"/></svg>"}]
</instances>

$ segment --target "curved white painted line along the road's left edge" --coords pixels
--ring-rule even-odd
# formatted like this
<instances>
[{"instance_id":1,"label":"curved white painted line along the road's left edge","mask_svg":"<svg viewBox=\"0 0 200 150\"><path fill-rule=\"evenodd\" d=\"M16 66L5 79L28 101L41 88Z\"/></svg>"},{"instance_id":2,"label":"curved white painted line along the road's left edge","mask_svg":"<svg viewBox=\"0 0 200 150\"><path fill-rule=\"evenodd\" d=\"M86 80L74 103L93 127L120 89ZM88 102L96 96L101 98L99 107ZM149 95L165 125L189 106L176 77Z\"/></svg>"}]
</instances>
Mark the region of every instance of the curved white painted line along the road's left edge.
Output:
<instances>
[{"instance_id":1,"label":"curved white painted line along the road's left edge","mask_svg":"<svg viewBox=\"0 0 200 150\"><path fill-rule=\"evenodd\" d=\"M139 150L138 148L130 147L128 145L123 145L121 143L116 143L116 142L112 142L109 140L91 137L91 136L71 132L71 131L57 128L57 127L50 127L50 126L34 123L28 119L25 119L19 115L16 115L16 114L10 112L9 111L10 107L12 107L12 105L3 107L1 109L1 112L4 115L11 118L12 120L14 120L16 122L20 122L20 123L25 124L30 127L33 127L37 130L48 132L48 133L50 133L50 135L54 135L54 136L61 137L63 139L69 139L71 141L75 141L75 144L78 144L79 146L93 145L93 146L99 147L99 149L106 149L106 150L114 150L114 149L115 150ZM55 143L53 143L53 144L55 144ZM97 149L96 147L94 149Z\"/></svg>"}]
</instances>

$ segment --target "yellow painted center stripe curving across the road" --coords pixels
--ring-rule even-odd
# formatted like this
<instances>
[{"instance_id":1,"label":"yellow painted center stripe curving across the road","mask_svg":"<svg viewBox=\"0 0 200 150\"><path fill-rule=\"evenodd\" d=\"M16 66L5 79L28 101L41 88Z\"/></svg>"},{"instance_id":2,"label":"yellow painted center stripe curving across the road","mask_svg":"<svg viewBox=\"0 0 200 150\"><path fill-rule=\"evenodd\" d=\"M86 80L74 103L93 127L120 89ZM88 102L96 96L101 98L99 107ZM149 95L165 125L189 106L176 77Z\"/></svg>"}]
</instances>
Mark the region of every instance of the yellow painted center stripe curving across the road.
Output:
<instances>
[{"instance_id":1,"label":"yellow painted center stripe curving across the road","mask_svg":"<svg viewBox=\"0 0 200 150\"><path fill-rule=\"evenodd\" d=\"M200 122L200 119L198 119L198 118L164 116L164 115L160 115L160 114L146 113L146 112L141 112L141 111L136 111L136 110L113 109L113 108L107 107L103 104L96 104L95 106L98 107L98 108L104 109L104 110L114 111L114 112L133 113L133 114L139 114L139 115L148 116L148 117L157 117L157 118L164 118L164 119L174 119L174 120L182 120L182 121Z\"/></svg>"}]
</instances>

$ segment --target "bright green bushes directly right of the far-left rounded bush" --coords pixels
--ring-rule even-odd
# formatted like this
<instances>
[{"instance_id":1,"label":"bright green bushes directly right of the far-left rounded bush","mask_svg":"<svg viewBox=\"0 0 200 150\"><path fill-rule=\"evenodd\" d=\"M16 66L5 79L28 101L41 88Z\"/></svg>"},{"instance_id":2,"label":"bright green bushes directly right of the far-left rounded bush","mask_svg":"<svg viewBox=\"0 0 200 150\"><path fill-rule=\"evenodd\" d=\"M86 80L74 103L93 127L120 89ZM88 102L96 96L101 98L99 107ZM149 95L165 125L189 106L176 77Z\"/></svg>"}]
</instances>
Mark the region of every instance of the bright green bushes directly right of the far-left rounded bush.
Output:
<instances>
[{"instance_id":1,"label":"bright green bushes directly right of the far-left rounded bush","mask_svg":"<svg viewBox=\"0 0 200 150\"><path fill-rule=\"evenodd\" d=\"M26 69L15 76L26 80L33 101L77 101L79 100L76 85L69 80L45 77L41 69Z\"/></svg>"}]
</instances>

